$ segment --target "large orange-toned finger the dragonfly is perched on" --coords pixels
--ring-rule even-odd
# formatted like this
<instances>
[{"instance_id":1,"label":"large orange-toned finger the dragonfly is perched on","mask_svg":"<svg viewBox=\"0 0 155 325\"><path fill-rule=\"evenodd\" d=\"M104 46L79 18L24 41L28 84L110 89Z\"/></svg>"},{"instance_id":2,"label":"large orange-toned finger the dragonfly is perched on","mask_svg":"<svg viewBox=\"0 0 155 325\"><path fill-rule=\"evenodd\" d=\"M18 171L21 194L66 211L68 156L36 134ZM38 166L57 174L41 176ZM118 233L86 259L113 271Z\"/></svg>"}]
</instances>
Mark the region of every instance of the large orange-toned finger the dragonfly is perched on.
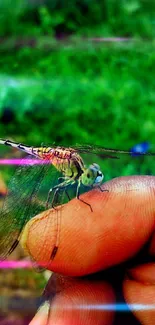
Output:
<instances>
[{"instance_id":1,"label":"large orange-toned finger the dragonfly is perched on","mask_svg":"<svg viewBox=\"0 0 155 325\"><path fill-rule=\"evenodd\" d=\"M102 188L108 192L94 189L81 196L92 212L77 199L60 207L60 241L54 260L50 260L51 226L57 210L45 211L27 224L22 244L39 264L82 276L127 260L148 240L154 229L155 177L115 178Z\"/></svg>"}]
</instances>

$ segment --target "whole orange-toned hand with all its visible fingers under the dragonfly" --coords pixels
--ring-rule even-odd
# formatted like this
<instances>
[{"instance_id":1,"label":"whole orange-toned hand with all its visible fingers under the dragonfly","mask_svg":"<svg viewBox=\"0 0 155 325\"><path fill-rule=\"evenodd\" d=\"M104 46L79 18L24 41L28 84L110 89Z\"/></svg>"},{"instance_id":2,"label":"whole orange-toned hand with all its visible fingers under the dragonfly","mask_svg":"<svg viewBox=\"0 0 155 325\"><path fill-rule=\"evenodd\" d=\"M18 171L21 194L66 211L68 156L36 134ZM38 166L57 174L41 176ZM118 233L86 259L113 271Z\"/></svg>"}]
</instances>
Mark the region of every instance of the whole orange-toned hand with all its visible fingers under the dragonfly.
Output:
<instances>
[{"instance_id":1,"label":"whole orange-toned hand with all its visible fingers under the dragonfly","mask_svg":"<svg viewBox=\"0 0 155 325\"><path fill-rule=\"evenodd\" d=\"M40 264L46 262L57 273L46 288L46 295L52 296L51 304L40 309L31 325L45 325L47 318L48 324L55 325L113 324L114 312L92 310L88 305L115 303L114 289L97 274L91 281L88 274L127 261L149 238L147 254L155 255L155 177L115 178L102 188L108 191L94 189L82 196L93 212L77 199L63 206L59 248L50 263L54 245L51 227L57 210L44 212L27 224L24 247ZM123 293L127 304L155 304L155 263L126 271ZM78 305L85 308L77 310ZM155 324L155 310L133 313L141 324Z\"/></svg>"}]
</instances>

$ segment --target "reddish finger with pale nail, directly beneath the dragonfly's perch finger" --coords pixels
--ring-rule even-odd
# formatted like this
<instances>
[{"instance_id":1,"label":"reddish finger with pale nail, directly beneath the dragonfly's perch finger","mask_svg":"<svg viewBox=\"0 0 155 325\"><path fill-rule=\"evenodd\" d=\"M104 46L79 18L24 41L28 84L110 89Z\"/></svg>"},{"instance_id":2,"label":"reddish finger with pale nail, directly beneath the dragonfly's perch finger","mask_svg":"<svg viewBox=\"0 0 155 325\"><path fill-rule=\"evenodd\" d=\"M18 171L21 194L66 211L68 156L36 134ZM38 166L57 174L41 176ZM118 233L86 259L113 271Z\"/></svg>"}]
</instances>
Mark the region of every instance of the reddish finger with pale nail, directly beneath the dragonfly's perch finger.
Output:
<instances>
[{"instance_id":1,"label":"reddish finger with pale nail, directly beneath the dragonfly's perch finger","mask_svg":"<svg viewBox=\"0 0 155 325\"><path fill-rule=\"evenodd\" d=\"M47 302L30 325L110 325L114 312L104 308L114 303L110 284L104 281L68 278L54 274L44 297Z\"/></svg>"}]
</instances>

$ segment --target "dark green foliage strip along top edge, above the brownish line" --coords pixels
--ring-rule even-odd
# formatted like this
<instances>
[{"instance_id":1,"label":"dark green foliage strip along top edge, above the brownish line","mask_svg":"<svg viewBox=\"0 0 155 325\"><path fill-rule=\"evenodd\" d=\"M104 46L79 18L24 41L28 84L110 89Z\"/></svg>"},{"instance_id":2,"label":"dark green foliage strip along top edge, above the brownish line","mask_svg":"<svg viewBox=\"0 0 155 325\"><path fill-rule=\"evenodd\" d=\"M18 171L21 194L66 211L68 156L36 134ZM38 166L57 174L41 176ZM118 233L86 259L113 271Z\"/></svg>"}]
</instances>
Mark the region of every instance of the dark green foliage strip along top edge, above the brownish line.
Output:
<instances>
[{"instance_id":1,"label":"dark green foliage strip along top edge, above the brownish line","mask_svg":"<svg viewBox=\"0 0 155 325\"><path fill-rule=\"evenodd\" d=\"M152 0L0 0L0 35L154 37Z\"/></svg>"}]
</instances>

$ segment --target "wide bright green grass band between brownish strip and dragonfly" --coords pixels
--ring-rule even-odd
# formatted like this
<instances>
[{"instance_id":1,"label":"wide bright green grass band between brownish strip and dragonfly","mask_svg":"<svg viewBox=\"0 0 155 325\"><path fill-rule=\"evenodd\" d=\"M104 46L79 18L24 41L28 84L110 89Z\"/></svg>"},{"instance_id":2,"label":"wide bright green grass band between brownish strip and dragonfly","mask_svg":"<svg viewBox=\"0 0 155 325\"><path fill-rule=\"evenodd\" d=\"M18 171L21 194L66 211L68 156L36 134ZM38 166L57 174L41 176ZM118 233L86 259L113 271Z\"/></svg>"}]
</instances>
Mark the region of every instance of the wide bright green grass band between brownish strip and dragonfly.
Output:
<instances>
[{"instance_id":1,"label":"wide bright green grass band between brownish strip and dragonfly","mask_svg":"<svg viewBox=\"0 0 155 325\"><path fill-rule=\"evenodd\" d=\"M34 145L155 143L154 60L139 45L4 55L1 136ZM4 125L8 108L13 120Z\"/></svg>"}]
</instances>

